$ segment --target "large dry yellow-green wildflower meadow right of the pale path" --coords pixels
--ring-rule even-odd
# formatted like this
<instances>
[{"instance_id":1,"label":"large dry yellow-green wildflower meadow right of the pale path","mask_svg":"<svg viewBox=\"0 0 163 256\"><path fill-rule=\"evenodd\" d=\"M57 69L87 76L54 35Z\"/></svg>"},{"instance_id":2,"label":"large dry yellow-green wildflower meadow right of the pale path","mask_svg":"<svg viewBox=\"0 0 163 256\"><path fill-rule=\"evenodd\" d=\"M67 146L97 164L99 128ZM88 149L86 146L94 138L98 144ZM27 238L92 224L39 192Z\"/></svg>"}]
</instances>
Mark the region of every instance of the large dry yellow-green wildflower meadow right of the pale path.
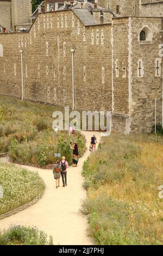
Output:
<instances>
[{"instance_id":1,"label":"large dry yellow-green wildflower meadow right of the pale path","mask_svg":"<svg viewBox=\"0 0 163 256\"><path fill-rule=\"evenodd\" d=\"M89 233L97 245L163 243L163 137L111 135L85 162Z\"/></svg>"}]
</instances>

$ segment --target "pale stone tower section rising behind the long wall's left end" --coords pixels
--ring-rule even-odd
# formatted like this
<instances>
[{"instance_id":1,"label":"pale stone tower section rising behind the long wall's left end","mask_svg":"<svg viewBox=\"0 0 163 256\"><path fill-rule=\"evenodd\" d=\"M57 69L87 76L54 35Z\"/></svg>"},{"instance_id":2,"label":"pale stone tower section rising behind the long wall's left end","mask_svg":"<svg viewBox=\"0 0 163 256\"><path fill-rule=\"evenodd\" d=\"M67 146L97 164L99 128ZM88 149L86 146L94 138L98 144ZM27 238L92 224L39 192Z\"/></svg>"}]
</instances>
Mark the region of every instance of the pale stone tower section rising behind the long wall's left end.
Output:
<instances>
[{"instance_id":1,"label":"pale stone tower section rising behind the long wall's left end","mask_svg":"<svg viewBox=\"0 0 163 256\"><path fill-rule=\"evenodd\" d=\"M11 0L11 27L15 30L17 25L30 23L32 15L31 0Z\"/></svg>"}]
</instances>

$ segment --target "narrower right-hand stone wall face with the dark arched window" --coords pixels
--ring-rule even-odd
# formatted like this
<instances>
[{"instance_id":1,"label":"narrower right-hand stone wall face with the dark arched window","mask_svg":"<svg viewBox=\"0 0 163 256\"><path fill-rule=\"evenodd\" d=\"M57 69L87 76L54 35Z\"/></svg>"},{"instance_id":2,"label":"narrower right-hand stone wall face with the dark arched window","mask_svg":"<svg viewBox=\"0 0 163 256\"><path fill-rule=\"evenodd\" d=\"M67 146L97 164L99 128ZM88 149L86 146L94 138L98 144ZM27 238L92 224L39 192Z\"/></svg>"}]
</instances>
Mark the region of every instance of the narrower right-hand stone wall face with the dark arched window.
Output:
<instances>
[{"instance_id":1,"label":"narrower right-hand stone wall face with the dark arched window","mask_svg":"<svg viewBox=\"0 0 163 256\"><path fill-rule=\"evenodd\" d=\"M152 32L150 42L139 42L139 32L146 27ZM132 75L132 118L131 130L150 132L155 121L155 99L156 120L162 123L162 58L159 56L159 45L162 43L162 19L160 18L132 18L131 19L131 65ZM142 77L137 74L139 59L142 60ZM158 75L156 66L158 61Z\"/></svg>"}]
</instances>

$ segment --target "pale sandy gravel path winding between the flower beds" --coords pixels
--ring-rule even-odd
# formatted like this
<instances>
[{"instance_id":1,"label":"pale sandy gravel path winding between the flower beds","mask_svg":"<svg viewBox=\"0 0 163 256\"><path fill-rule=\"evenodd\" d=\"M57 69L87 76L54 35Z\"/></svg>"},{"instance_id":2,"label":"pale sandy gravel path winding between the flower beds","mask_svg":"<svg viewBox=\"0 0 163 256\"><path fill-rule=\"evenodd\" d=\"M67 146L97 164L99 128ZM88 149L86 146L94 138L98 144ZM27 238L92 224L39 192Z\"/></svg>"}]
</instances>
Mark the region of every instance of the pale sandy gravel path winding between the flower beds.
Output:
<instances>
[{"instance_id":1,"label":"pale sandy gravel path winding between the flower beds","mask_svg":"<svg viewBox=\"0 0 163 256\"><path fill-rule=\"evenodd\" d=\"M94 132L97 141L100 133ZM13 224L36 226L53 236L54 245L92 245L87 236L87 219L80 214L82 200L86 198L86 191L82 187L82 166L90 155L89 143L92 132L83 132L86 137L87 150L79 160L78 167L70 167L67 173L67 187L55 188L52 170L26 166L29 170L39 172L46 184L43 197L35 205L0 221L0 229ZM0 159L2 161L3 159ZM6 158L4 157L4 161Z\"/></svg>"}]
</instances>

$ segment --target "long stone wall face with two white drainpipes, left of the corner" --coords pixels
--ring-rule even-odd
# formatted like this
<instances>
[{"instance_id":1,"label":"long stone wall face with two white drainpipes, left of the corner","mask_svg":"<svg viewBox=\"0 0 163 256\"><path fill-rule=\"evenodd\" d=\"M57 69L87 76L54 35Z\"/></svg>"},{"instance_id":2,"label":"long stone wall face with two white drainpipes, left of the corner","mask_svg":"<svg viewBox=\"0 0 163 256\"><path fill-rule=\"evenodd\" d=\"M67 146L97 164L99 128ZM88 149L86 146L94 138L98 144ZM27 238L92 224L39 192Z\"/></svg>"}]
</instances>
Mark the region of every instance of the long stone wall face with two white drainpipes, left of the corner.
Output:
<instances>
[{"instance_id":1,"label":"long stone wall face with two white drainpipes, left of the corner","mask_svg":"<svg viewBox=\"0 0 163 256\"><path fill-rule=\"evenodd\" d=\"M72 106L74 48L76 108L110 111L110 36L111 25L85 27L71 10L40 14L29 33L1 34L0 93L21 97L23 50L25 98Z\"/></svg>"}]
</instances>

